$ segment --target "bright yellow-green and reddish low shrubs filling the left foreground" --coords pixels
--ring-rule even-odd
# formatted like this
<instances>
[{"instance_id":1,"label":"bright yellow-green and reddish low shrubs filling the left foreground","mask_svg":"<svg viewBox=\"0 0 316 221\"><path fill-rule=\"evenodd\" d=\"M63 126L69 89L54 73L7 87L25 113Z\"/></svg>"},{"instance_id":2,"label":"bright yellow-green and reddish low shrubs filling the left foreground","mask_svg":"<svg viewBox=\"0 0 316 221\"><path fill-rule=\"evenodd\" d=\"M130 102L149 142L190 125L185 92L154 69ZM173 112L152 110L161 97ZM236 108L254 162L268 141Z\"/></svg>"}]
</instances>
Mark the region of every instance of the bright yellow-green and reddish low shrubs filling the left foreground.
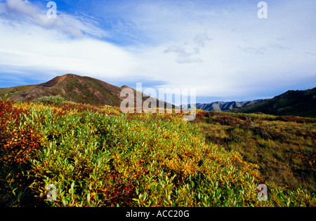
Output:
<instances>
[{"instance_id":1,"label":"bright yellow-green and reddish low shrubs filling the left foreground","mask_svg":"<svg viewBox=\"0 0 316 221\"><path fill-rule=\"evenodd\" d=\"M1 206L316 204L313 192L273 182L268 201L259 201L261 168L237 149L207 143L183 114L122 114L64 102L0 105ZM47 199L49 185L54 200Z\"/></svg>"}]
</instances>

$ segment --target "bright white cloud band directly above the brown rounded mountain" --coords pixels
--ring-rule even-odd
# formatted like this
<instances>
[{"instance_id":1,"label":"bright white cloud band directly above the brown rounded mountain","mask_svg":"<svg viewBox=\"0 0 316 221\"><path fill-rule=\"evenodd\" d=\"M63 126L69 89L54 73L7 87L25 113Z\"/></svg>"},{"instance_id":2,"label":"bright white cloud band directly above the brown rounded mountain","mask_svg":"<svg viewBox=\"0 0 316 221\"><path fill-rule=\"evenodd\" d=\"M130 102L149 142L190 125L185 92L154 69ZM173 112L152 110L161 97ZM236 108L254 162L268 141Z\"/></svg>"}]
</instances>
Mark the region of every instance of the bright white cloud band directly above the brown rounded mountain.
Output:
<instances>
[{"instance_id":1,"label":"bright white cloud band directly above the brown rounded mountain","mask_svg":"<svg viewBox=\"0 0 316 221\"><path fill-rule=\"evenodd\" d=\"M128 51L105 41L68 39L56 30L0 22L0 67L115 78L133 67ZM1 69L4 72L4 68ZM8 69L8 71L10 71Z\"/></svg>"}]
</instances>

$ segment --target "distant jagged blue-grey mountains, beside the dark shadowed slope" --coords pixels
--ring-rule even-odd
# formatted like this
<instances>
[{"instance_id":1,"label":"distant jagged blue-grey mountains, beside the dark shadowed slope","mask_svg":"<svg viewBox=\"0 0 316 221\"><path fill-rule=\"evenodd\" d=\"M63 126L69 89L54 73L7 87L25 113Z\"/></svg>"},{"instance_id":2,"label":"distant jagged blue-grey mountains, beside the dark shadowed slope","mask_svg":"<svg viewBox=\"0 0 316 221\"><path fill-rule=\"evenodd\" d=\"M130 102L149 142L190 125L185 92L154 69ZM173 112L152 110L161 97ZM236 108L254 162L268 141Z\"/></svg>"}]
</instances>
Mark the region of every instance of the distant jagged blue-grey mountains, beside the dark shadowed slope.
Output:
<instances>
[{"instance_id":1,"label":"distant jagged blue-grey mountains, beside the dark shadowed slope","mask_svg":"<svg viewBox=\"0 0 316 221\"><path fill-rule=\"evenodd\" d=\"M216 101L216 102L211 102L209 104L201 104L197 103L196 107L197 109L202 109L207 112L224 112L228 111L230 109L235 109L238 107L244 107L245 105L253 105L256 102L259 102L262 100L252 100L252 101L243 101L243 102L223 102L223 101ZM188 105L190 108L191 105Z\"/></svg>"}]
</instances>

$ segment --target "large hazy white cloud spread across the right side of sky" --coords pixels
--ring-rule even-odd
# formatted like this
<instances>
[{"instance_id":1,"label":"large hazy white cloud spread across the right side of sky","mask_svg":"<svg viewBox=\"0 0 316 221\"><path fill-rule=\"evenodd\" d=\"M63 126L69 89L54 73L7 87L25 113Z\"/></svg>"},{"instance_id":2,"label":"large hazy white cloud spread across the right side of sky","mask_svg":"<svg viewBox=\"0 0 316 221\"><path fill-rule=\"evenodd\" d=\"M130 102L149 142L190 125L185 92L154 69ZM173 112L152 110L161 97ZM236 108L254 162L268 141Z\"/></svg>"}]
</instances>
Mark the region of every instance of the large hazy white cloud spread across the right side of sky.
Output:
<instances>
[{"instance_id":1,"label":"large hazy white cloud spread across the right side of sky","mask_svg":"<svg viewBox=\"0 0 316 221\"><path fill-rule=\"evenodd\" d=\"M172 4L140 7L138 25L159 46L138 55L142 63L138 73L164 80L166 87L196 87L200 96L256 98L267 95L268 88L304 87L298 79L310 87L310 80L316 78L315 29L310 23L315 20L310 10L315 2L281 1L268 6L267 20L258 19L256 4L251 7L249 2L235 11L212 6L183 10ZM192 58L203 62L190 62Z\"/></svg>"}]
</instances>

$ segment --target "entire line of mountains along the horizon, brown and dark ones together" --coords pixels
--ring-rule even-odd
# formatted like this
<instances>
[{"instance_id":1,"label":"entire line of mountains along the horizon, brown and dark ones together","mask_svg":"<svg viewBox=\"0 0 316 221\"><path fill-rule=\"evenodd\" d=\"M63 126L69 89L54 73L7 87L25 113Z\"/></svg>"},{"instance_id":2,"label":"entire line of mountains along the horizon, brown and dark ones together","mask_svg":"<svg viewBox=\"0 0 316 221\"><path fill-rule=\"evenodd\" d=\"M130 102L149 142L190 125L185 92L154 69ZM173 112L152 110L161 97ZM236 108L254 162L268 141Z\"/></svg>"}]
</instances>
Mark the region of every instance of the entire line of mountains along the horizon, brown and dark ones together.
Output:
<instances>
[{"instance_id":1,"label":"entire line of mountains along the horizon, brown and dark ones together","mask_svg":"<svg viewBox=\"0 0 316 221\"><path fill-rule=\"evenodd\" d=\"M119 107L122 100L121 91L128 86L117 87L110 83L93 79L88 76L76 74L65 74L56 76L51 81L29 86L16 86L11 88L0 88L0 98L17 101L34 101L46 96L61 95L65 100L90 104L110 105ZM130 88L134 93L135 107L138 102L157 102L157 107L176 107L163 100L150 98L141 93L143 98L136 100L136 90ZM190 107L190 105L189 105ZM204 111L220 112L242 112L242 113L263 113L274 115L294 115L316 117L316 88L306 91L287 91L275 98L265 100L252 100L246 102L211 102L209 104L196 104L197 109Z\"/></svg>"}]
</instances>

